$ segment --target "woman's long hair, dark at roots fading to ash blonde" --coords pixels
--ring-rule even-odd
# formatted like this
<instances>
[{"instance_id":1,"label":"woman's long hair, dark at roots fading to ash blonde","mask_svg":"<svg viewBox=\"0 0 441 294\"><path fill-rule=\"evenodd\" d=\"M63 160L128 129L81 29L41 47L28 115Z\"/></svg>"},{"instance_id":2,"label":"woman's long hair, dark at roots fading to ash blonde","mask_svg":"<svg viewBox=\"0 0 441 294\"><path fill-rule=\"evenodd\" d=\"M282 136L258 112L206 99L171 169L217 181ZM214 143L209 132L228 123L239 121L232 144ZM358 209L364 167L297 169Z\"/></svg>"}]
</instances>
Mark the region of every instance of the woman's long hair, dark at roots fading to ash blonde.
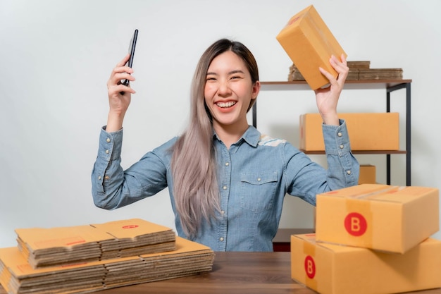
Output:
<instances>
[{"instance_id":1,"label":"woman's long hair, dark at roots fading to ash blonde","mask_svg":"<svg viewBox=\"0 0 441 294\"><path fill-rule=\"evenodd\" d=\"M194 72L190 92L190 122L173 147L171 169L175 208L185 234L192 238L204 219L210 223L220 210L213 125L206 107L204 88L211 61L225 51L240 56L251 74L253 84L259 80L256 60L240 42L220 39L202 54ZM249 109L256 99L251 99Z\"/></svg>"}]
</instances>

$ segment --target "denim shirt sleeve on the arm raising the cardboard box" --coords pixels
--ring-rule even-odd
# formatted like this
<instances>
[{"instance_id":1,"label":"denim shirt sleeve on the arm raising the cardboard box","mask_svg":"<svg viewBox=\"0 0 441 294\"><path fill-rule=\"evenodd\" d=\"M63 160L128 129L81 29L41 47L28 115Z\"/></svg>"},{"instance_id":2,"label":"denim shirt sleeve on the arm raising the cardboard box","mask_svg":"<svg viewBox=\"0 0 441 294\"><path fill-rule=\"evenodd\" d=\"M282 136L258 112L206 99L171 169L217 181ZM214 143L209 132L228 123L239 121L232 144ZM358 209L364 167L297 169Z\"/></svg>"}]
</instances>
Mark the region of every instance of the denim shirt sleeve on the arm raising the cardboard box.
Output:
<instances>
[{"instance_id":1,"label":"denim shirt sleeve on the arm raising the cardboard box","mask_svg":"<svg viewBox=\"0 0 441 294\"><path fill-rule=\"evenodd\" d=\"M287 193L312 205L316 195L358 184L359 163L352 155L346 123L323 125L328 169L311 161L294 147L285 147Z\"/></svg>"}]
</instances>

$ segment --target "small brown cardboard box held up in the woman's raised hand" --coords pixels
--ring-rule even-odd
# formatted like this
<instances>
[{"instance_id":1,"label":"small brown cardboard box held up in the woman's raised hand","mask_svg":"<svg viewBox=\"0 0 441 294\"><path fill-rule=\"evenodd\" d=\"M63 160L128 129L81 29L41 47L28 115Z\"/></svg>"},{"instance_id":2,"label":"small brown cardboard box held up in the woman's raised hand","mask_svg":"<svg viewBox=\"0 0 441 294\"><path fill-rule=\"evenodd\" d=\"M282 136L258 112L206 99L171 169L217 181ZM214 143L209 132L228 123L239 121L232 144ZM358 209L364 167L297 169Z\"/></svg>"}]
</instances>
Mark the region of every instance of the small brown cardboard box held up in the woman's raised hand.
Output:
<instances>
[{"instance_id":1,"label":"small brown cardboard box held up in the woman's raised hand","mask_svg":"<svg viewBox=\"0 0 441 294\"><path fill-rule=\"evenodd\" d=\"M330 56L346 56L312 5L292 16L276 39L313 90L329 83L318 67L337 77L337 72L329 63Z\"/></svg>"}]
</instances>

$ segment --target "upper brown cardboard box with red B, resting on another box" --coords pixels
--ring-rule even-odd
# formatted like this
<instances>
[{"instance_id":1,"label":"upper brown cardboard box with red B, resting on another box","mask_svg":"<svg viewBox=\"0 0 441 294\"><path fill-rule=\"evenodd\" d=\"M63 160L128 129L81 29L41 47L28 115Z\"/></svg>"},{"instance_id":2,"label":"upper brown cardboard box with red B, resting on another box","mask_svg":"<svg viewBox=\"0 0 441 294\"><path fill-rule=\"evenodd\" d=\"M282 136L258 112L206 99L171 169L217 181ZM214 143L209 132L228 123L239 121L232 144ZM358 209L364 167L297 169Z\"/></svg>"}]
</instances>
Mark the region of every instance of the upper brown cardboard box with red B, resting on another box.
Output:
<instances>
[{"instance_id":1,"label":"upper brown cardboard box with red B, resting on another box","mask_svg":"<svg viewBox=\"0 0 441 294\"><path fill-rule=\"evenodd\" d=\"M363 184L317 195L316 239L404 253L440 228L439 190Z\"/></svg>"}]
</instances>

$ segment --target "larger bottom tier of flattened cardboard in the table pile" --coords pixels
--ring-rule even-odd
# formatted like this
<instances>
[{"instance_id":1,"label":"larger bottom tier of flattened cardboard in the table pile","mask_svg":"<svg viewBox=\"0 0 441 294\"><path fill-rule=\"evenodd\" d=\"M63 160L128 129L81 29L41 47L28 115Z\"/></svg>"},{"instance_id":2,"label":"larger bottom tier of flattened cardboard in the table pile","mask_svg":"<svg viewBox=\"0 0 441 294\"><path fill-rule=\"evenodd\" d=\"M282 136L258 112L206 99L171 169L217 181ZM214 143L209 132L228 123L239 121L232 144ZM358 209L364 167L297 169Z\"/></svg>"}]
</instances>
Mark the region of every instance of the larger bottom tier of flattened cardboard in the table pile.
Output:
<instances>
[{"instance_id":1,"label":"larger bottom tier of flattened cardboard in the table pile","mask_svg":"<svg viewBox=\"0 0 441 294\"><path fill-rule=\"evenodd\" d=\"M213 251L176 238L176 250L34 269L17 247L0 249L0 283L8 293L89 293L211 271Z\"/></svg>"}]
</instances>

